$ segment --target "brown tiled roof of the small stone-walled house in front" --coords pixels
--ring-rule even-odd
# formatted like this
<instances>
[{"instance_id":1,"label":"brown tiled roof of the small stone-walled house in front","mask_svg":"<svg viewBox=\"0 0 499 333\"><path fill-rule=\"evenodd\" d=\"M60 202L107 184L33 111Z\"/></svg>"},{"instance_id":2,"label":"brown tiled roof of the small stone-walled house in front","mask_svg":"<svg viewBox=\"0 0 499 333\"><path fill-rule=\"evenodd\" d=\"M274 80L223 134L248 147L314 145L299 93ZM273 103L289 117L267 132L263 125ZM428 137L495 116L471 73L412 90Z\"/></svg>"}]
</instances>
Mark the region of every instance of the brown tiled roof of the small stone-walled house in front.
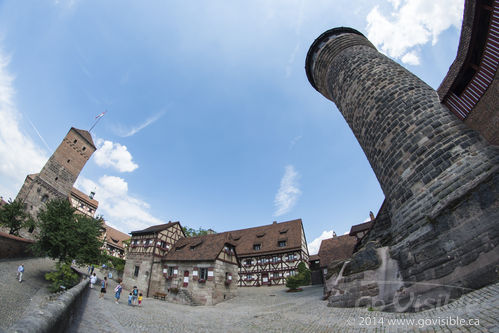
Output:
<instances>
[{"instance_id":1,"label":"brown tiled roof of the small stone-walled house in front","mask_svg":"<svg viewBox=\"0 0 499 333\"><path fill-rule=\"evenodd\" d=\"M225 244L235 246L227 233L181 238L167 253L164 260L214 261L223 250Z\"/></svg>"}]
</instances>

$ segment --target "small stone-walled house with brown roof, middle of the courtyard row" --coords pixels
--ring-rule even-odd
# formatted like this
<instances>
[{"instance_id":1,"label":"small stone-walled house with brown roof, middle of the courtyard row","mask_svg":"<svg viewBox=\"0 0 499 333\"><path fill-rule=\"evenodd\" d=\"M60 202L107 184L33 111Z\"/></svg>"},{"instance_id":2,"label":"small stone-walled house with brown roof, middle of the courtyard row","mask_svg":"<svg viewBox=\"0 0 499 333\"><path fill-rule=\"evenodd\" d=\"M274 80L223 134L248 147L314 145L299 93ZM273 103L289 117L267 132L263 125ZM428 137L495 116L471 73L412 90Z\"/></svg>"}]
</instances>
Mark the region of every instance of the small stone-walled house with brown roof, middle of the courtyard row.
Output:
<instances>
[{"instance_id":1,"label":"small stone-walled house with brown roof, middle of the courtyard row","mask_svg":"<svg viewBox=\"0 0 499 333\"><path fill-rule=\"evenodd\" d=\"M182 238L162 263L157 292L166 290L168 300L214 305L236 295L239 260L227 233Z\"/></svg>"}]
</instances>

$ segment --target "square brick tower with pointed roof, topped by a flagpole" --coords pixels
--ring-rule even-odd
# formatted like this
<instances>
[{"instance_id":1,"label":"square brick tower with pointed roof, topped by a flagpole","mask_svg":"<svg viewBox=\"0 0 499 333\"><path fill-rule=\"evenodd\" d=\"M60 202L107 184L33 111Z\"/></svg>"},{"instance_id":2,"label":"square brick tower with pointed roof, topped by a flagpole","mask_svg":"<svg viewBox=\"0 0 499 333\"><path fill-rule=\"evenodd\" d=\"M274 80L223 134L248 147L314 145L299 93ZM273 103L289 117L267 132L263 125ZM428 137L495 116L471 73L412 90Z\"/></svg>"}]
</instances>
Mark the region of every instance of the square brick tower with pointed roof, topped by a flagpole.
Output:
<instances>
[{"instance_id":1,"label":"square brick tower with pointed roof, topped by a flagpole","mask_svg":"<svg viewBox=\"0 0 499 333\"><path fill-rule=\"evenodd\" d=\"M16 200L35 216L45 202L68 198L88 159L96 150L88 131L72 127L40 173L28 175Z\"/></svg>"}]
</instances>

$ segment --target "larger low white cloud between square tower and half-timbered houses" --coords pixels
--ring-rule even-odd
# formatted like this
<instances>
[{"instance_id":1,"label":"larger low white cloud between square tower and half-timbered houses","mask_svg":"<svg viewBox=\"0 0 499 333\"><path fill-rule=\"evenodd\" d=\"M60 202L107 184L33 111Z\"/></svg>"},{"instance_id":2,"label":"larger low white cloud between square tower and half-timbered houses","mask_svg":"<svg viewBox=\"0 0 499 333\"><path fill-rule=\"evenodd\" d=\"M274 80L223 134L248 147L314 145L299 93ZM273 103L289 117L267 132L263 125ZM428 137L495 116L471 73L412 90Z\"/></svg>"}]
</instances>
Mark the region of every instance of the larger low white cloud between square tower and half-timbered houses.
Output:
<instances>
[{"instance_id":1,"label":"larger low white cloud between square tower and half-timbered houses","mask_svg":"<svg viewBox=\"0 0 499 333\"><path fill-rule=\"evenodd\" d=\"M79 177L76 186L84 193L95 191L95 199L99 201L98 214L104 216L106 223L123 232L164 223L149 213L149 204L128 194L128 183L123 178L104 175L96 183Z\"/></svg>"}]
</instances>

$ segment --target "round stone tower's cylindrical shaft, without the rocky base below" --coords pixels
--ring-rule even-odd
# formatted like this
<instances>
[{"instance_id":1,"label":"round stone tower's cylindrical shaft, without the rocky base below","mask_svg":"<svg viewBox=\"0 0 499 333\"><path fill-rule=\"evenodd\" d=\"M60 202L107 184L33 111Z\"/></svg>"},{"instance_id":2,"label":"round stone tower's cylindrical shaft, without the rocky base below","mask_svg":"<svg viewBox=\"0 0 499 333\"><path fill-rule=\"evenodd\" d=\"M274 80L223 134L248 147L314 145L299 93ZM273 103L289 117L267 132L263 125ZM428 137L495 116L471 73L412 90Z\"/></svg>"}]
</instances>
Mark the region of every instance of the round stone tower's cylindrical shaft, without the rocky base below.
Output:
<instances>
[{"instance_id":1,"label":"round stone tower's cylindrical shaft, without the rocky base below","mask_svg":"<svg viewBox=\"0 0 499 333\"><path fill-rule=\"evenodd\" d=\"M326 31L310 47L305 67L364 150L391 205L395 243L420 227L416 220L431 221L497 170L497 150L360 32Z\"/></svg>"}]
</instances>

